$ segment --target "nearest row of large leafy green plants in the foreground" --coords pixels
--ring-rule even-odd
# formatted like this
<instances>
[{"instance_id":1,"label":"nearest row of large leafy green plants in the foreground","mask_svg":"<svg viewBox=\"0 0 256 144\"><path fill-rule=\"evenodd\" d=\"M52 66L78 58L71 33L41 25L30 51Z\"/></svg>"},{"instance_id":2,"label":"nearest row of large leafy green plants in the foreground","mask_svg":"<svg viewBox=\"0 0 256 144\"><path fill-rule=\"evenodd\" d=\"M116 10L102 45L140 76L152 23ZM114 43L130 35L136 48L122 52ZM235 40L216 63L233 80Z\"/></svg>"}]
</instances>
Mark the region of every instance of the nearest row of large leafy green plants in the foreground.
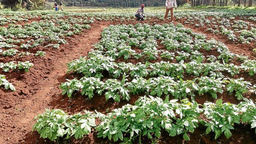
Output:
<instances>
[{"instance_id":1,"label":"nearest row of large leafy green plants in the foreground","mask_svg":"<svg viewBox=\"0 0 256 144\"><path fill-rule=\"evenodd\" d=\"M59 109L46 110L36 116L33 131L36 130L40 137L53 141L71 136L78 139L95 129L97 137L130 144L136 139L141 143L142 137L160 138L163 131L168 132L171 137L183 135L183 139L189 141L189 134L200 123L206 127L206 134L211 131L215 133L215 139L223 133L230 138L237 124L248 123L251 128L256 127L256 104L251 100L244 100L235 105L218 99L216 103L206 102L203 108L199 108L201 105L189 102L188 99L180 100L179 103L175 99L169 101L168 96L165 100L145 96L140 97L135 105L126 104L106 115L97 111L84 111L84 114L69 116ZM101 121L97 125L96 118Z\"/></svg>"}]
</instances>

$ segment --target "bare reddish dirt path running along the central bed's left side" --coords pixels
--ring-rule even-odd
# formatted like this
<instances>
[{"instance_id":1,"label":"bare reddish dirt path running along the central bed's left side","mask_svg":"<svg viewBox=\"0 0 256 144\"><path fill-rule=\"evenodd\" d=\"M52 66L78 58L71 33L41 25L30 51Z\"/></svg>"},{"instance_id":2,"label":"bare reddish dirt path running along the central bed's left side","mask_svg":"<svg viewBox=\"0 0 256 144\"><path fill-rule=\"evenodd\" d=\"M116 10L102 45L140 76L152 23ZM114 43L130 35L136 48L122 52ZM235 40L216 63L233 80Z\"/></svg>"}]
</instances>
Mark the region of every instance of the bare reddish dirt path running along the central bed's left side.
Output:
<instances>
[{"instance_id":1,"label":"bare reddish dirt path running along the central bed's left side","mask_svg":"<svg viewBox=\"0 0 256 144\"><path fill-rule=\"evenodd\" d=\"M0 122L0 144L24 143L24 137L31 132L34 123L33 118L45 109L51 108L51 96L61 92L59 84L66 74L66 64L79 56L87 55L91 45L100 39L100 33L105 27L107 25L104 24L97 28L94 27L81 35L69 38L69 44L61 45L59 50L47 52L44 59L49 60L49 63L43 64L42 62L45 61L35 60L34 68L31 68L30 72L24 73L22 82L14 83L17 85L18 92L8 92L3 97L0 95L2 102L8 102L9 97L15 97L17 93L24 95L24 99L19 99L19 97L14 99L14 103L18 104L10 104L11 106L6 106L0 110L0 120L5 119L5 121ZM45 69L48 70L46 73ZM35 76L31 77L31 73L34 73ZM37 76L38 74L40 76ZM19 88L24 85L28 85L25 86L27 90L20 90ZM31 86L38 89L35 94L29 94ZM0 90L0 94L2 93Z\"/></svg>"}]
</instances>

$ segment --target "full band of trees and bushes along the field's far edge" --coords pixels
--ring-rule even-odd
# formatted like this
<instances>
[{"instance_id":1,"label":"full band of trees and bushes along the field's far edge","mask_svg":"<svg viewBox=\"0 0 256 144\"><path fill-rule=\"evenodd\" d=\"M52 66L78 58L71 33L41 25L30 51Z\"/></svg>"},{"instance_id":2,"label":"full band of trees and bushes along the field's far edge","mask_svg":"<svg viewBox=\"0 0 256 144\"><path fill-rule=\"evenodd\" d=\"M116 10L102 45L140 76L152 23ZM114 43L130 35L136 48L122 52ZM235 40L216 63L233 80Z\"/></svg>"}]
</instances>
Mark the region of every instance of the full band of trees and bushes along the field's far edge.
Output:
<instances>
[{"instance_id":1,"label":"full band of trees and bushes along the field's far edge","mask_svg":"<svg viewBox=\"0 0 256 144\"><path fill-rule=\"evenodd\" d=\"M51 6L48 2L61 0L0 0L5 8L18 9L48 9ZM256 6L256 0L176 0L177 5L190 5L191 7L210 5L210 6ZM149 6L165 6L166 0L62 0L66 6L91 6L91 7L140 7L141 4Z\"/></svg>"}]
</instances>

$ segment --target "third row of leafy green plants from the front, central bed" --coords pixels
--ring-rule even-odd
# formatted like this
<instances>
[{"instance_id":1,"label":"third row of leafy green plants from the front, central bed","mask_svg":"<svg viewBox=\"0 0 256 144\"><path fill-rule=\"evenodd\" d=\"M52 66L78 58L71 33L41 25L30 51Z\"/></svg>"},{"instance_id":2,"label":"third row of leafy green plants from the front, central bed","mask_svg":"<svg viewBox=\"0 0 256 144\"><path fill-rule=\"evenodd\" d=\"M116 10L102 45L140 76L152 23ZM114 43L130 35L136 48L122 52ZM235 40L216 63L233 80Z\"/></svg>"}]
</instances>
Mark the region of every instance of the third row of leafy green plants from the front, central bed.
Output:
<instances>
[{"instance_id":1,"label":"third row of leafy green plants from the front, central bed","mask_svg":"<svg viewBox=\"0 0 256 144\"><path fill-rule=\"evenodd\" d=\"M201 58L203 55L192 52L194 55L190 62L170 63L169 61L160 61L154 64L146 62L145 64L114 62L111 57L104 57L100 51L89 53L89 59L81 57L80 59L71 61L68 64L68 72L83 73L86 77L103 77L104 72L108 72L114 78L118 78L123 73L129 73L133 78L146 76L172 76L174 78L183 78L183 74L193 74L194 76L209 76L211 72L228 72L231 76L239 74L240 71L248 71L250 76L255 74L255 60L245 60L241 66L234 64L220 64L219 61L211 63L203 63ZM198 54L198 55L197 55ZM177 57L181 57L177 56ZM214 61L214 60L213 60Z\"/></svg>"}]
</instances>

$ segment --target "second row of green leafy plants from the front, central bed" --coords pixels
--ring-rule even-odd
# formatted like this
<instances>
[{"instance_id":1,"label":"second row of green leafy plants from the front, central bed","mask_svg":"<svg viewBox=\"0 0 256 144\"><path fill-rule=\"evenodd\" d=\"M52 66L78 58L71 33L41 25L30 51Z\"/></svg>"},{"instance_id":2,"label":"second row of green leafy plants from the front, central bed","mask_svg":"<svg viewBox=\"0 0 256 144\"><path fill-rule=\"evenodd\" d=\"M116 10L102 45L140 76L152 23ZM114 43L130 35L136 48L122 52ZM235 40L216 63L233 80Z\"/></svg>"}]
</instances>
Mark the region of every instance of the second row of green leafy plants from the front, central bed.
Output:
<instances>
[{"instance_id":1,"label":"second row of green leafy plants from the front, central bed","mask_svg":"<svg viewBox=\"0 0 256 144\"><path fill-rule=\"evenodd\" d=\"M244 81L243 78L218 78L216 73L211 77L202 76L193 80L183 80L168 76L159 76L156 78L145 79L142 77L134 78L127 82L126 75L123 75L121 81L116 79L108 79L105 82L100 81L100 78L86 78L81 80L76 78L68 80L60 85L62 94L67 94L71 97L74 92L81 92L82 95L88 96L91 99L95 93L102 95L103 92L106 100L113 98L114 101L120 102L121 98L129 100L130 94L146 93L152 96L171 94L175 99L183 99L190 96L194 99L196 93L210 94L214 99L217 99L217 93L222 94L223 90L230 93L235 92L237 99L241 100L245 92L254 91L250 82Z\"/></svg>"}]
</instances>

